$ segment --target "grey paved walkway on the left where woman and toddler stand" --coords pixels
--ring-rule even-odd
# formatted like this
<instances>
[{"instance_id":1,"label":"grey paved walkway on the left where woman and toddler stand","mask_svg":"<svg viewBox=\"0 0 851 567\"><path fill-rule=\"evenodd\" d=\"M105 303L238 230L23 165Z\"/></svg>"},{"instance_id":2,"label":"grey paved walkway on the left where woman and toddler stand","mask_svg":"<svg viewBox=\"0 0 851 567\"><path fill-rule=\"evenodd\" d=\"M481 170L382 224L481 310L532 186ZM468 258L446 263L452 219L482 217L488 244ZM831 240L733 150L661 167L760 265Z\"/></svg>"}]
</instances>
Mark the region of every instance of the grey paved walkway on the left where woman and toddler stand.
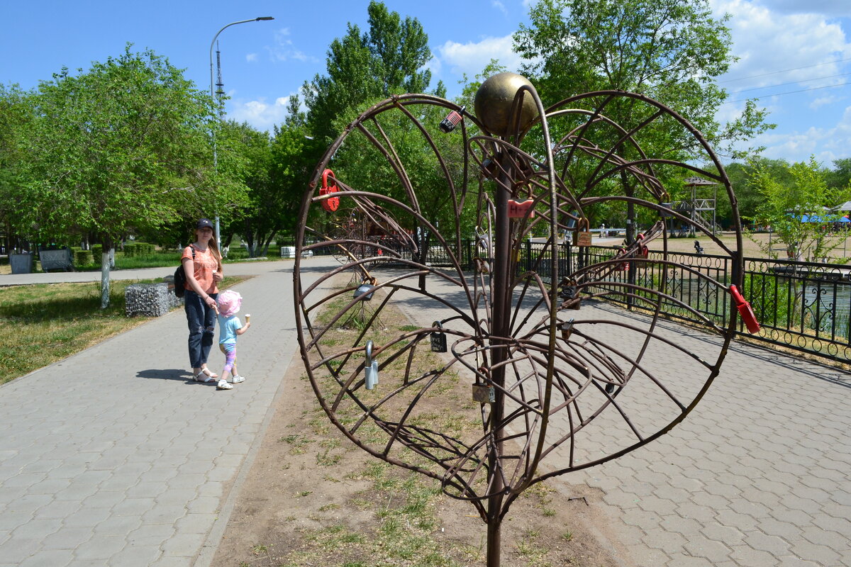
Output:
<instances>
[{"instance_id":1,"label":"grey paved walkway on the left where woman and toddler stand","mask_svg":"<svg viewBox=\"0 0 851 567\"><path fill-rule=\"evenodd\" d=\"M243 314L254 316L239 341L248 380L231 391L191 381L182 310L0 387L0 566L212 561L274 400L288 387L292 267L226 265L230 275L258 275L235 288ZM52 281L84 275L47 274ZM22 276L0 276L0 285ZM223 358L211 360L220 371Z\"/></svg>"}]
</instances>

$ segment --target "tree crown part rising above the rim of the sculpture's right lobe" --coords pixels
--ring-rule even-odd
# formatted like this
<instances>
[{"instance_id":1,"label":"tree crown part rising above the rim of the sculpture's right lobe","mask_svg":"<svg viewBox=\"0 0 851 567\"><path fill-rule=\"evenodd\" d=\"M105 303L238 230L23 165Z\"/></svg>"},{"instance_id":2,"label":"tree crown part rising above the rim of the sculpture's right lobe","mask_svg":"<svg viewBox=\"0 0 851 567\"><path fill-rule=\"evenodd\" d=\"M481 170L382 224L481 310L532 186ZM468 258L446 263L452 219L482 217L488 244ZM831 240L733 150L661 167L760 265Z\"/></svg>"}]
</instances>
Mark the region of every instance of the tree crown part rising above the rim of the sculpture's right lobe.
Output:
<instances>
[{"instance_id":1,"label":"tree crown part rising above the rim of the sculpture's right lobe","mask_svg":"<svg viewBox=\"0 0 851 567\"><path fill-rule=\"evenodd\" d=\"M514 36L515 50L545 102L602 89L647 94L734 154L732 143L773 128L752 102L724 128L715 121L727 98L716 77L734 56L728 16L713 19L707 0L540 0L529 19ZM617 120L634 110L624 101L608 114Z\"/></svg>"}]
</instances>

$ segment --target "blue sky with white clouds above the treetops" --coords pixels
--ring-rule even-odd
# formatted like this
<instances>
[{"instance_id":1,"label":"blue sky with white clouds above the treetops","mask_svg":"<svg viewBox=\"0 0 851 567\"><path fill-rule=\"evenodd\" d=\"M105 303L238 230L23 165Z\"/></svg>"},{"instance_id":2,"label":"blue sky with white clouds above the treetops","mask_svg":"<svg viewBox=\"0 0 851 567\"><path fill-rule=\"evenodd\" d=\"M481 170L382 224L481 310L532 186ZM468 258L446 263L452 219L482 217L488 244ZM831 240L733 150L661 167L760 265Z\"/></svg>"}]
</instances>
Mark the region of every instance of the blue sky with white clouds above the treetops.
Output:
<instances>
[{"instance_id":1,"label":"blue sky with white clouds above the treetops","mask_svg":"<svg viewBox=\"0 0 851 567\"><path fill-rule=\"evenodd\" d=\"M385 0L391 11L420 20L433 55L432 87L448 97L464 74L475 77L497 59L510 71L520 60L511 35L528 23L534 0ZM831 167L851 157L851 0L710 0L730 14L739 60L719 77L730 93L719 122L759 97L777 128L748 145L790 162L810 156ZM0 0L0 82L37 88L63 67L88 70L93 61L151 48L168 57L197 88L210 88L210 45L218 33L222 81L231 97L226 116L271 130L288 97L325 73L328 44L350 23L365 31L368 0ZM214 49L215 50L215 49ZM213 59L215 61L215 53ZM217 82L214 78L214 82ZM565 98L575 93L565 93ZM676 108L675 108L676 110Z\"/></svg>"}]
</instances>

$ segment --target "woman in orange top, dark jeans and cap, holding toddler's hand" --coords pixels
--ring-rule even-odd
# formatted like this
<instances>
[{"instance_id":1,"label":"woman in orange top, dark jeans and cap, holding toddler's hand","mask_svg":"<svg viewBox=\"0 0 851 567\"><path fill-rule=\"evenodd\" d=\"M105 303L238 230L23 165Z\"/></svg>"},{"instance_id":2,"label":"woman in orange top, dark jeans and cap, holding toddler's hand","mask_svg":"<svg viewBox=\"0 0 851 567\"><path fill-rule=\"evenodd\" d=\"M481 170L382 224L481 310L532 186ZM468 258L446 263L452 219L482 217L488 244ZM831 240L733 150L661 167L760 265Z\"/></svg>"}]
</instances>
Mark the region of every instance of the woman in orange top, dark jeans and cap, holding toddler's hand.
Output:
<instances>
[{"instance_id":1,"label":"woman in orange top, dark jeans and cap, holding toddler's hand","mask_svg":"<svg viewBox=\"0 0 851 567\"><path fill-rule=\"evenodd\" d=\"M213 236L213 223L201 218L195 225L195 242L183 250L183 271L186 273L184 294L186 321L189 324L189 364L192 376L200 382L212 382L219 376L207 367L210 347L213 346L215 320L218 314L216 298L222 279L219 244ZM220 380L218 389L231 389Z\"/></svg>"}]
</instances>

